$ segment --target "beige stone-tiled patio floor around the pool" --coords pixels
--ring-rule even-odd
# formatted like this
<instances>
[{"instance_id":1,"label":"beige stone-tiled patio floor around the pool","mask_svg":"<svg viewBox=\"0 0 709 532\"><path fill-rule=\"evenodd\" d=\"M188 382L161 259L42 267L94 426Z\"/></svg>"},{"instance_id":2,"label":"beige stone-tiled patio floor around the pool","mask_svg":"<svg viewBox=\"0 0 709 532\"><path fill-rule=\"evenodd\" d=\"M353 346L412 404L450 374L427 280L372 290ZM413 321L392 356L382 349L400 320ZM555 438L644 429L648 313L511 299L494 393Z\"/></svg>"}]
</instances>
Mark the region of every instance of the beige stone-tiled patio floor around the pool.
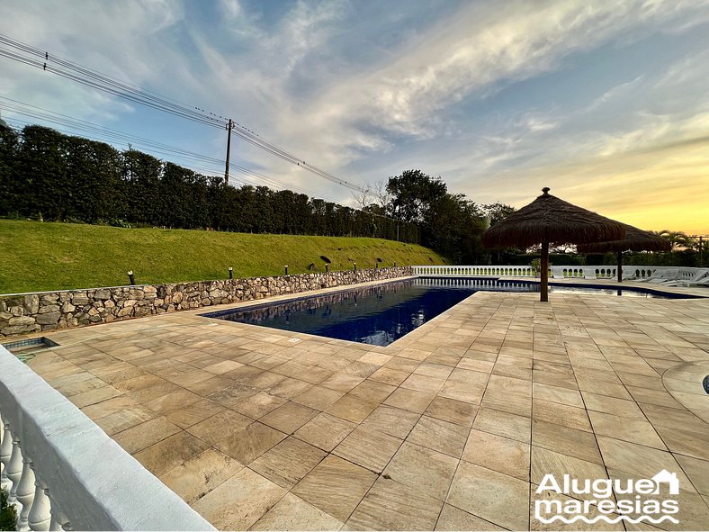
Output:
<instances>
[{"instance_id":1,"label":"beige stone-tiled patio floor around the pool","mask_svg":"<svg viewBox=\"0 0 709 532\"><path fill-rule=\"evenodd\" d=\"M709 300L538 298L476 293L389 347L181 312L30 365L222 529L557 528L544 474L661 469L658 527L709 527Z\"/></svg>"}]
</instances>

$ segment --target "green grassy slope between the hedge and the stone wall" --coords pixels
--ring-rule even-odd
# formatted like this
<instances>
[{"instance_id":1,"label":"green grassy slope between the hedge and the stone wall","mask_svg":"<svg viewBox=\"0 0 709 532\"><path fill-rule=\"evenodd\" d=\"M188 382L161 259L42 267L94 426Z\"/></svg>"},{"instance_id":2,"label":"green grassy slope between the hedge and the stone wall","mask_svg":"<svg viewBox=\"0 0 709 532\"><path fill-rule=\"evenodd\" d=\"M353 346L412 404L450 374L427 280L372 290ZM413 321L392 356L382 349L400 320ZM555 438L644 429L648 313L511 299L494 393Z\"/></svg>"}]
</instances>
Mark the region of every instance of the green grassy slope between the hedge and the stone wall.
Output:
<instances>
[{"instance_id":1,"label":"green grassy slope between the hedge and the stone wall","mask_svg":"<svg viewBox=\"0 0 709 532\"><path fill-rule=\"evenodd\" d=\"M338 249L339 248L339 249ZM443 264L420 246L382 239L252 235L203 230L121 229L107 226L0 220L0 293L40 292L128 283L171 283L235 277L300 274L315 263L324 271Z\"/></svg>"}]
</instances>

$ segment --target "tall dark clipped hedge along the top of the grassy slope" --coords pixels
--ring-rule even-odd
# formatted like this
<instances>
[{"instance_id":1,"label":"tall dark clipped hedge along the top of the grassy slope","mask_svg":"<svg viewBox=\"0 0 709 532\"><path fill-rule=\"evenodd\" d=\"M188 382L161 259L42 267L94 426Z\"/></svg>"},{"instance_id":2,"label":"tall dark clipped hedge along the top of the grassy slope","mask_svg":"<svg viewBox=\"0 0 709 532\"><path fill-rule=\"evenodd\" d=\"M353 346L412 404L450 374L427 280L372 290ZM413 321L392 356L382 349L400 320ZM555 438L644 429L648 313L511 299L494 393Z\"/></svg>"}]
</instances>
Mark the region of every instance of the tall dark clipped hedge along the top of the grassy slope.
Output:
<instances>
[{"instance_id":1,"label":"tall dark clipped hedge along the top of the grassy slope","mask_svg":"<svg viewBox=\"0 0 709 532\"><path fill-rule=\"evenodd\" d=\"M0 131L0 216L421 242L392 220L266 186L225 185L136 149L37 126Z\"/></svg>"}]
</instances>

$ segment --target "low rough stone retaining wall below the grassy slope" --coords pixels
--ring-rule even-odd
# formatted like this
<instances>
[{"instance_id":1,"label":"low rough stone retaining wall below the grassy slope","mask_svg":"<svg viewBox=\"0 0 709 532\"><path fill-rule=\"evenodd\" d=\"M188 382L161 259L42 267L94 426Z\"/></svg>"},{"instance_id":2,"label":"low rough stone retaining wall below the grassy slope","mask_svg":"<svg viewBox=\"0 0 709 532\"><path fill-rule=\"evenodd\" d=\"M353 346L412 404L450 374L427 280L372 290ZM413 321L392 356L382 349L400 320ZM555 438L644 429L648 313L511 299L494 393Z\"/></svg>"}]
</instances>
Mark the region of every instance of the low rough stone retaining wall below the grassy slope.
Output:
<instances>
[{"instance_id":1,"label":"low rough stone retaining wall below the grassy slope","mask_svg":"<svg viewBox=\"0 0 709 532\"><path fill-rule=\"evenodd\" d=\"M0 338L411 275L411 267L0 295Z\"/></svg>"}]
</instances>

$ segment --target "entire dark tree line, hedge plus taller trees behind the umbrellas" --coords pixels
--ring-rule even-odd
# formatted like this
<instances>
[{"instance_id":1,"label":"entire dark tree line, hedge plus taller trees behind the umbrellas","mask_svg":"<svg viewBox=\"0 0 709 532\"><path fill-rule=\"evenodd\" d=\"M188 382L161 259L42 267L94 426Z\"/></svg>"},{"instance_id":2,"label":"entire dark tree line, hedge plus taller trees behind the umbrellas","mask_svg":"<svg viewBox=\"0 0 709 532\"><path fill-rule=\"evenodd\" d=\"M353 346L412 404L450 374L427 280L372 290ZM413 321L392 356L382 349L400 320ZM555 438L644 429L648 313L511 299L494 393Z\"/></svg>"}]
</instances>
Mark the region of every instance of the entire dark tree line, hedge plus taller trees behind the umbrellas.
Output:
<instances>
[{"instance_id":1,"label":"entire dark tree line, hedge plus taller trees behind the umbrellas","mask_svg":"<svg viewBox=\"0 0 709 532\"><path fill-rule=\"evenodd\" d=\"M534 249L484 249L480 235L515 209L451 194L440 177L406 170L365 187L359 209L289 190L225 185L136 149L29 125L0 127L0 216L139 227L375 237L422 244L457 264L528 264ZM633 254L640 265L704 266L709 242L660 231L673 250ZM563 251L563 250L560 250ZM559 257L604 264L614 257ZM611 264L611 263L609 263Z\"/></svg>"}]
</instances>

